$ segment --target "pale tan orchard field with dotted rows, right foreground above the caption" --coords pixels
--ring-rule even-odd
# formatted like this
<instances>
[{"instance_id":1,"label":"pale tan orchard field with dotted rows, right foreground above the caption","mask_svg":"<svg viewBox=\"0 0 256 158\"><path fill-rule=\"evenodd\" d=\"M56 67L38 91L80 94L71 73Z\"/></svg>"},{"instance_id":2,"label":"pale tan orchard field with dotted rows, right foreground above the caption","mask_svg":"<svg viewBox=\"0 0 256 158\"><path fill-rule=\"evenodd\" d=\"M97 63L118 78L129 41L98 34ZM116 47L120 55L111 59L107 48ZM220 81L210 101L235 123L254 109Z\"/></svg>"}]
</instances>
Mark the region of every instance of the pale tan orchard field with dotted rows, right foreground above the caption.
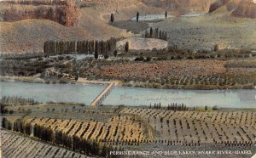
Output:
<instances>
[{"instance_id":1,"label":"pale tan orchard field with dotted rows, right foreground above the caption","mask_svg":"<svg viewBox=\"0 0 256 158\"><path fill-rule=\"evenodd\" d=\"M253 145L255 112L197 112L125 108L125 114L141 116L160 133L166 144Z\"/></svg>"}]
</instances>

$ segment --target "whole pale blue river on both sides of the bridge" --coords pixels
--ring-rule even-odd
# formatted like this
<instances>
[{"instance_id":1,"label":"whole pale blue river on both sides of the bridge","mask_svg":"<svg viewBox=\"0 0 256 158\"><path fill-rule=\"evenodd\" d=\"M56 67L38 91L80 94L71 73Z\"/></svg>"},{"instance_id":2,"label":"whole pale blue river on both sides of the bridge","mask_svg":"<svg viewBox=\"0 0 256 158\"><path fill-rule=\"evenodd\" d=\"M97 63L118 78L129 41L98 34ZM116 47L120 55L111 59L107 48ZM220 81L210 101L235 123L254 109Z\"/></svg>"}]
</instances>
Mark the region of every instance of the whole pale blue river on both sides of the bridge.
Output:
<instances>
[{"instance_id":1,"label":"whole pale blue river on both sides of the bridge","mask_svg":"<svg viewBox=\"0 0 256 158\"><path fill-rule=\"evenodd\" d=\"M22 96L40 102L79 102L90 104L106 85L41 84L26 82L0 82L1 97ZM162 105L179 103L188 106L214 106L229 108L256 108L256 90L177 90L140 87L114 87L103 101L112 105Z\"/></svg>"}]
</instances>

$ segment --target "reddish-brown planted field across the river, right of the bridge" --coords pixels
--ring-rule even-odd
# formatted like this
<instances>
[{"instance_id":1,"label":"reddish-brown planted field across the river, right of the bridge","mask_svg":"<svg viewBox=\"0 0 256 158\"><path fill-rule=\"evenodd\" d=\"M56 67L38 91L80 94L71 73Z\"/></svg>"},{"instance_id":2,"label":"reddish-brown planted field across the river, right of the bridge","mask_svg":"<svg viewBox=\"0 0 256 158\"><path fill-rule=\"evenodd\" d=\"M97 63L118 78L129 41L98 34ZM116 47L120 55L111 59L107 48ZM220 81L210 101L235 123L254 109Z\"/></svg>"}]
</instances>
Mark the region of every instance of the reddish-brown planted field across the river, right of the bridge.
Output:
<instances>
[{"instance_id":1,"label":"reddish-brown planted field across the river, right of the bridge","mask_svg":"<svg viewBox=\"0 0 256 158\"><path fill-rule=\"evenodd\" d=\"M241 63L249 62L250 60L241 61ZM108 63L84 70L82 75L92 79L94 77L94 79L121 80L126 86L137 87L254 88L253 85L256 83L254 69L239 65L236 68L230 68L229 65L232 63L234 63L232 60L213 59Z\"/></svg>"}]
</instances>

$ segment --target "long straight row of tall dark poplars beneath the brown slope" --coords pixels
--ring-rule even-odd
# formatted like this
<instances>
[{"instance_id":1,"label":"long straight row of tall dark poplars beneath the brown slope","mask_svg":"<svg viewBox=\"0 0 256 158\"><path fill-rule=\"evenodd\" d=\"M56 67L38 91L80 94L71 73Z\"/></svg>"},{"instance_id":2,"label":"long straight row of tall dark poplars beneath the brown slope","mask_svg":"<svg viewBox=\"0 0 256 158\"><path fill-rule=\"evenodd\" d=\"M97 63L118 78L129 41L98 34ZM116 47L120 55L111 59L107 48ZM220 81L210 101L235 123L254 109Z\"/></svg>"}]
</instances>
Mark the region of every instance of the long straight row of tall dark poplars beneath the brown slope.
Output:
<instances>
[{"instance_id":1,"label":"long straight row of tall dark poplars beneath the brown slope","mask_svg":"<svg viewBox=\"0 0 256 158\"><path fill-rule=\"evenodd\" d=\"M117 40L107 41L47 41L44 42L44 54L102 54L108 55L116 48Z\"/></svg>"}]
</instances>

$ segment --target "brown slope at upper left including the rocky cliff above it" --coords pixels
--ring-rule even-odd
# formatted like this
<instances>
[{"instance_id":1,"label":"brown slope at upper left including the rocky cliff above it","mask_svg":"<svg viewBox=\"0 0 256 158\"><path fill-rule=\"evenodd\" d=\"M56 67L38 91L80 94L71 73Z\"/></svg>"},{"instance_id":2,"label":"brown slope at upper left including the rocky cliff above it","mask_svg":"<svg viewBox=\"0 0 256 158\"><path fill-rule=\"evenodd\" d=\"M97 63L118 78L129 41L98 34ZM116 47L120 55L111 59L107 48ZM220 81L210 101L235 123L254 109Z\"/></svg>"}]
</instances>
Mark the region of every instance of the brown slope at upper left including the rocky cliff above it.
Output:
<instances>
[{"instance_id":1,"label":"brown slope at upper left including the rocky cliff above it","mask_svg":"<svg viewBox=\"0 0 256 158\"><path fill-rule=\"evenodd\" d=\"M99 12L98 8L79 8L77 3L75 6L72 4L79 16L76 12L61 10L68 8L68 3L57 5L58 1L52 1L53 5L49 5L43 3L44 1L35 2L29 5L26 1L1 5L1 54L43 52L44 42L49 40L107 40L110 37L131 37L131 33L108 25L102 19L102 12ZM56 10L59 10L60 14L57 14ZM53 16L49 16L49 12Z\"/></svg>"}]
</instances>

